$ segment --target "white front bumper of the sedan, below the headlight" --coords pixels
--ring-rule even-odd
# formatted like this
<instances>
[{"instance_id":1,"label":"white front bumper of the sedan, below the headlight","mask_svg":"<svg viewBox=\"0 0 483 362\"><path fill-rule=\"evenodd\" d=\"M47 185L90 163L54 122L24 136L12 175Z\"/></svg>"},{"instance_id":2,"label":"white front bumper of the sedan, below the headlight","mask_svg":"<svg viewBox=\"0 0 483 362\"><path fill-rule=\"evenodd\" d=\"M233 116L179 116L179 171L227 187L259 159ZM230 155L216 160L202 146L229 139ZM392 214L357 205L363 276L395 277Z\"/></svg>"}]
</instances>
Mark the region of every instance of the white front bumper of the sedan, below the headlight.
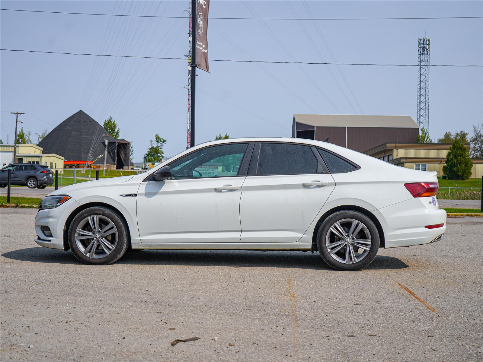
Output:
<instances>
[{"instance_id":1,"label":"white front bumper of the sedan, below the headlight","mask_svg":"<svg viewBox=\"0 0 483 362\"><path fill-rule=\"evenodd\" d=\"M35 239L35 242L46 248L63 250L64 226L71 212L79 206L80 204L71 198L55 209L45 209L37 212L34 223L38 237ZM52 237L45 236L41 230L42 226L47 226L50 229Z\"/></svg>"}]
</instances>

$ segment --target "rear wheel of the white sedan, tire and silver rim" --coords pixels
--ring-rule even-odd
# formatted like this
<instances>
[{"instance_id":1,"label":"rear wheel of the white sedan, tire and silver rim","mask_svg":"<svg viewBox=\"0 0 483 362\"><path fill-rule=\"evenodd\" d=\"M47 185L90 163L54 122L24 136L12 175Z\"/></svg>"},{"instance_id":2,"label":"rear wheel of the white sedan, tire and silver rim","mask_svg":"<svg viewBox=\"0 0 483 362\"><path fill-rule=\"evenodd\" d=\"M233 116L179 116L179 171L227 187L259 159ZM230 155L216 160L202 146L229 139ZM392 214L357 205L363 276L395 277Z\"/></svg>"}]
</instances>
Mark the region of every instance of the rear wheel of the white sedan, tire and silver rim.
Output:
<instances>
[{"instance_id":1,"label":"rear wheel of the white sedan, tire and silver rim","mask_svg":"<svg viewBox=\"0 0 483 362\"><path fill-rule=\"evenodd\" d=\"M379 250L379 232L366 215L353 210L337 211L327 217L317 232L320 256L338 270L368 266Z\"/></svg>"}]
</instances>

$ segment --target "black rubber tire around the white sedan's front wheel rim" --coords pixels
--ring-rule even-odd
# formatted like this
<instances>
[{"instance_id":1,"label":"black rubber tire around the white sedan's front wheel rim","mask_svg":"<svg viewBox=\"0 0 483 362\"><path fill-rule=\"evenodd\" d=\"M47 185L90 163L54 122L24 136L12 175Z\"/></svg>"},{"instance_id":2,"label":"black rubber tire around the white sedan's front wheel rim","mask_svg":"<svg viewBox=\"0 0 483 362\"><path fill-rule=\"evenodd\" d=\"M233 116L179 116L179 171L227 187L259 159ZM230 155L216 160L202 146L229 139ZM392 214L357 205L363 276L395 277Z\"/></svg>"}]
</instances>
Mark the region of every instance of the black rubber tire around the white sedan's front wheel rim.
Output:
<instances>
[{"instance_id":1,"label":"black rubber tire around the white sedan's front wheel rim","mask_svg":"<svg viewBox=\"0 0 483 362\"><path fill-rule=\"evenodd\" d=\"M112 223L114 223L115 228L117 229L117 243L114 246L114 250L111 251L110 254L95 259L92 257L86 256L78 247L76 240L75 240L75 233L76 229L80 226L80 223L85 220L85 218L92 216L92 215L99 215L108 218ZM130 240L128 235L128 225L124 221L123 217L119 215L114 210L105 208L105 207L92 207L85 210L82 210L77 214L72 223L69 227L69 246L71 247L71 251L74 256L79 259L81 262L90 265L106 265L111 264L121 258L126 251L128 250ZM98 243L99 244L99 243ZM96 244L95 244L96 245ZM99 251L101 251L100 245L98 245Z\"/></svg>"}]
</instances>

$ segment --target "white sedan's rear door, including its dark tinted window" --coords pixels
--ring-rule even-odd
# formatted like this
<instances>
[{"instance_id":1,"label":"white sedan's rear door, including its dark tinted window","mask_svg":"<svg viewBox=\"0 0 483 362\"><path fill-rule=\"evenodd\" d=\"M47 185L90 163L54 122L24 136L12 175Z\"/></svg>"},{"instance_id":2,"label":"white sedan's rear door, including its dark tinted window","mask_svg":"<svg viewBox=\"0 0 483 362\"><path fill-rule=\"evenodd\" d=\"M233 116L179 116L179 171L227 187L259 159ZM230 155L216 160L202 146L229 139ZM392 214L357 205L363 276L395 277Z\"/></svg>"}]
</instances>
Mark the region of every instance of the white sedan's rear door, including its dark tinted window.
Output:
<instances>
[{"instance_id":1,"label":"white sedan's rear door, including its dark tinted window","mask_svg":"<svg viewBox=\"0 0 483 362\"><path fill-rule=\"evenodd\" d=\"M314 147L257 143L242 186L241 241L298 241L334 187Z\"/></svg>"}]
</instances>

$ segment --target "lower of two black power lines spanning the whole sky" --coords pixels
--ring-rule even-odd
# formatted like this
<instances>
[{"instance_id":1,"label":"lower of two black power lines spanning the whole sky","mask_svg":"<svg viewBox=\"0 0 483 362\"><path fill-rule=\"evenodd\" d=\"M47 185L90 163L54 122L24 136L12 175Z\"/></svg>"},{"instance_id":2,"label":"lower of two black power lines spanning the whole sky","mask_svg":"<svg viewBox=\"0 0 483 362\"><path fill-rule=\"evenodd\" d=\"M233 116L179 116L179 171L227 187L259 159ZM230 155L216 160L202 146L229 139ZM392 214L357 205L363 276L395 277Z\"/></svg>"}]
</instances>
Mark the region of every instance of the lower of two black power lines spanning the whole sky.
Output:
<instances>
[{"instance_id":1,"label":"lower of two black power lines spanning the whole sky","mask_svg":"<svg viewBox=\"0 0 483 362\"><path fill-rule=\"evenodd\" d=\"M168 60L185 60L186 58L170 58L165 56L123 56L112 54L88 54L88 53L65 53L65 52L47 52L41 50L22 50L22 49L0 49L7 52L28 52L28 53L45 53L45 54L65 54L71 56L111 56L124 58L146 58L146 59L168 59ZM274 64L312 64L312 65L369 65L381 67L417 67L417 64L376 64L376 63L324 63L324 62L284 62L276 60L240 60L240 59L209 59L211 62L235 62L235 63L274 63ZM430 67L483 67L483 65L455 65L455 64L431 64Z\"/></svg>"}]
</instances>

